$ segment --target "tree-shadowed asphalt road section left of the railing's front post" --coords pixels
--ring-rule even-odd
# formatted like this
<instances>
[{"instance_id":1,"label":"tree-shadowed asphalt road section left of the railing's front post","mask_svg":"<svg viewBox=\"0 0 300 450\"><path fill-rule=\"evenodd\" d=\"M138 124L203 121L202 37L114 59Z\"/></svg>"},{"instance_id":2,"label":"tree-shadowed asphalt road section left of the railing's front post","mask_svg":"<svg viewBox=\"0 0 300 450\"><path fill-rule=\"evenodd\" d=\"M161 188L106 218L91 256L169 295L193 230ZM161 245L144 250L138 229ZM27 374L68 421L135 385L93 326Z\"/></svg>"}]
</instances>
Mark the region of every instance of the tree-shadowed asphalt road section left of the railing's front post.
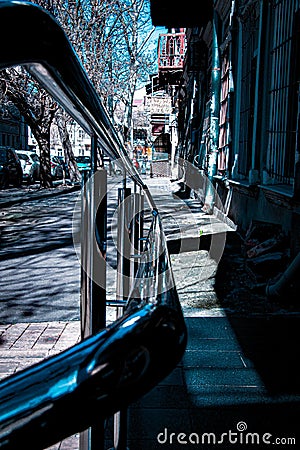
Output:
<instances>
[{"instance_id":1,"label":"tree-shadowed asphalt road section left of the railing's front post","mask_svg":"<svg viewBox=\"0 0 300 450\"><path fill-rule=\"evenodd\" d=\"M80 264L72 240L77 196L1 210L1 323L79 319Z\"/></svg>"}]
</instances>

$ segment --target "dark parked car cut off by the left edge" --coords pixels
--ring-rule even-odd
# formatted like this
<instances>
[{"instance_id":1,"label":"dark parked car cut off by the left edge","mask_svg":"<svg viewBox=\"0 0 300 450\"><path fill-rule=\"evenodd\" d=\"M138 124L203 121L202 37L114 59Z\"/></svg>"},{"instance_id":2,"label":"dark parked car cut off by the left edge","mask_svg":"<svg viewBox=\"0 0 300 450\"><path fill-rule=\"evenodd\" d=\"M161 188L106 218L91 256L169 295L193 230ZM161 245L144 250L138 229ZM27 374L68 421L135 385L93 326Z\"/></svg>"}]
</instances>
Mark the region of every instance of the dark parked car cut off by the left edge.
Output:
<instances>
[{"instance_id":1,"label":"dark parked car cut off by the left edge","mask_svg":"<svg viewBox=\"0 0 300 450\"><path fill-rule=\"evenodd\" d=\"M0 188L10 184L21 186L23 170L16 151L9 147L0 147Z\"/></svg>"}]
</instances>

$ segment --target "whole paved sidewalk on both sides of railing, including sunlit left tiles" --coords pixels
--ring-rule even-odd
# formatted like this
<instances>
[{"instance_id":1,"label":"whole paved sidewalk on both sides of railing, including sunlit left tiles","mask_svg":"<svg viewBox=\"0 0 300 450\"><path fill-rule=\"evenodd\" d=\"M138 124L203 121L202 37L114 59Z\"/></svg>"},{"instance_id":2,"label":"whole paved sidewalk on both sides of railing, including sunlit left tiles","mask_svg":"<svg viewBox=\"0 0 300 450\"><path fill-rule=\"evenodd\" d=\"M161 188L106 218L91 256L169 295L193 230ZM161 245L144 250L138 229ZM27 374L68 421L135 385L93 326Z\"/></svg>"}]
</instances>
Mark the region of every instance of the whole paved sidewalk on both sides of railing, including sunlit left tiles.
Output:
<instances>
[{"instance_id":1,"label":"whole paved sidewalk on both sides of railing, including sunlit left tiles","mask_svg":"<svg viewBox=\"0 0 300 450\"><path fill-rule=\"evenodd\" d=\"M300 404L299 314L243 316L224 309L215 287L218 261L201 248L201 239L222 235L230 230L228 225L200 213L196 200L190 207L175 200L165 179L147 183L176 250L171 261L186 317L188 346L170 376L131 405L130 450L211 449L213 442L207 442L206 434L213 433L212 440L220 439L222 433L228 438L229 430L240 432L239 439L243 429L271 433L273 440L293 438L298 432ZM202 231L200 248L197 230ZM79 329L78 321L1 326L0 376L75 344ZM201 445L203 435L206 441ZM109 423L106 448L112 446L111 438ZM220 443L220 448L232 447L228 441L225 444ZM51 450L78 448L78 436L72 436Z\"/></svg>"}]
</instances>

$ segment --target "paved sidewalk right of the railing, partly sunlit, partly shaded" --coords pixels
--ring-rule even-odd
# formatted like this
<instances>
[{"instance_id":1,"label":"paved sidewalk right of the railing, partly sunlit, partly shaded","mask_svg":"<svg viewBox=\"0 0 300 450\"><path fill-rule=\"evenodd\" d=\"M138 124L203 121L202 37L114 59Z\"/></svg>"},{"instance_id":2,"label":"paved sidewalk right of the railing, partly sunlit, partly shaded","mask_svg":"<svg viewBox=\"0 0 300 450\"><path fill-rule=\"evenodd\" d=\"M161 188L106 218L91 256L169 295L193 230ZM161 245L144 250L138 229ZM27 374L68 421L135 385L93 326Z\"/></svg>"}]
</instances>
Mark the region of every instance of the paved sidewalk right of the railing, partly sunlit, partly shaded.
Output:
<instances>
[{"instance_id":1,"label":"paved sidewalk right of the railing, partly sunlit, partly shaded","mask_svg":"<svg viewBox=\"0 0 300 450\"><path fill-rule=\"evenodd\" d=\"M131 405L129 448L299 445L299 313L260 297L260 309L246 314L242 306L224 307L216 277L231 281L222 279L218 263L225 244L234 245L233 229L203 214L197 201L174 198L167 180L150 181L150 189L175 251L171 261L188 344L172 374ZM211 239L204 249L205 236Z\"/></svg>"}]
</instances>

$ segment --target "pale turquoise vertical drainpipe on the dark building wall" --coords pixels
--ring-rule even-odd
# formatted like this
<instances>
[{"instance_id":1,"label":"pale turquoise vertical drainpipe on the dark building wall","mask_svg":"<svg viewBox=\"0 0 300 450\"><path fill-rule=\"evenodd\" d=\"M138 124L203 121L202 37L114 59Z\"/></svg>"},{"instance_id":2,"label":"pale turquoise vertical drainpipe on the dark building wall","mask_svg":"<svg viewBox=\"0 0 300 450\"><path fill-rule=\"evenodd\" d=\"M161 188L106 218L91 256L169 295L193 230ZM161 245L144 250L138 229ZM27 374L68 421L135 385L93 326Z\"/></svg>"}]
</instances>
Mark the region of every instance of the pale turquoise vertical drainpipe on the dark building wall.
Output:
<instances>
[{"instance_id":1,"label":"pale turquoise vertical drainpipe on the dark building wall","mask_svg":"<svg viewBox=\"0 0 300 450\"><path fill-rule=\"evenodd\" d=\"M210 155L208 161L208 183L205 193L205 204L203 211L207 214L213 213L215 203L215 180L217 174L218 154L219 154L219 116L220 116L220 89L221 70L220 55L217 35L217 14L213 13L213 38L212 38L212 71L211 71L211 106L210 106Z\"/></svg>"}]
</instances>

